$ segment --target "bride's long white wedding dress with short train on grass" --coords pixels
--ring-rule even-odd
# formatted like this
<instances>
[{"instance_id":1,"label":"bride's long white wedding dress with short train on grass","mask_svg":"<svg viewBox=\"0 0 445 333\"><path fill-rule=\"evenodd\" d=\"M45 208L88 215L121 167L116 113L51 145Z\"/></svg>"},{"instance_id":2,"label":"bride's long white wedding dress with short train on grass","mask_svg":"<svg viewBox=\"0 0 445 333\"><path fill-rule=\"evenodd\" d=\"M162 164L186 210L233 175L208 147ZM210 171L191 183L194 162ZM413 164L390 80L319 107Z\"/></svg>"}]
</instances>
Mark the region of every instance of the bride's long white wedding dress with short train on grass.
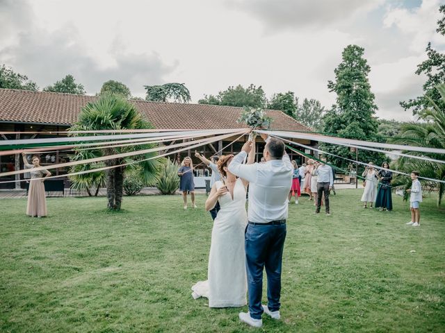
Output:
<instances>
[{"instance_id":1,"label":"bride's long white wedding dress with short train on grass","mask_svg":"<svg viewBox=\"0 0 445 333\"><path fill-rule=\"evenodd\" d=\"M223 182L215 182L216 188ZM213 222L208 280L192 287L193 298L209 298L209 307L242 307L247 304L244 231L245 187L240 178L234 185L234 198L227 193L219 198L221 209Z\"/></svg>"}]
</instances>

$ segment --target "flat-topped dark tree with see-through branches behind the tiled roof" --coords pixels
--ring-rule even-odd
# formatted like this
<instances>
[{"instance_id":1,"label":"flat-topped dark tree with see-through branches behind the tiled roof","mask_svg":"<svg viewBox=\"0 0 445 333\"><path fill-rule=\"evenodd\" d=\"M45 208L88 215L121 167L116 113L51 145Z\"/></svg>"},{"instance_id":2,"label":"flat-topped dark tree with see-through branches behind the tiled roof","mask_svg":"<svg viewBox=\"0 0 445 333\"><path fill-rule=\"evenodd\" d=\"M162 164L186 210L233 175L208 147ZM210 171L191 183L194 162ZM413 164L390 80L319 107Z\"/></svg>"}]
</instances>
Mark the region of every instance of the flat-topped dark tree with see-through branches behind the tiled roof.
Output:
<instances>
[{"instance_id":1,"label":"flat-topped dark tree with see-through branches behind the tiled roof","mask_svg":"<svg viewBox=\"0 0 445 333\"><path fill-rule=\"evenodd\" d=\"M165 83L165 85L145 85L147 90L146 101L188 103L191 101L190 92L184 83Z\"/></svg>"}]
</instances>

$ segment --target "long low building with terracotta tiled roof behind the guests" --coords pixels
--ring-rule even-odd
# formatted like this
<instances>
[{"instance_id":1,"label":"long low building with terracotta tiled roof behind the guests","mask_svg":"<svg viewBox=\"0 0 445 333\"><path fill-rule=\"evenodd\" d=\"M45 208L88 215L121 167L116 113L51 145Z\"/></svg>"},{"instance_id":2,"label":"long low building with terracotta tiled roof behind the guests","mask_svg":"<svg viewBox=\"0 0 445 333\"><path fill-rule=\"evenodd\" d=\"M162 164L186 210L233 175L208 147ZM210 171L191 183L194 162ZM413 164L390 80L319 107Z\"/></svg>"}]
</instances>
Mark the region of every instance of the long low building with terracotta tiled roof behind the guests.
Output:
<instances>
[{"instance_id":1,"label":"long low building with terracotta tiled roof behind the guests","mask_svg":"<svg viewBox=\"0 0 445 333\"><path fill-rule=\"evenodd\" d=\"M17 139L29 137L48 137L50 132L67 130L79 117L82 108L89 102L95 102L98 96L85 96L76 94L62 94L54 92L31 92L18 89L0 89L0 132L24 132L24 134L1 135L0 139ZM243 108L235 108L223 105L207 105L192 103L163 103L131 100L136 105L143 117L158 129L224 129L245 128L245 124L238 123ZM291 131L311 131L292 117L278 110L266 110L266 114L273 119L271 129ZM38 132L29 134L26 132ZM60 134L59 134L60 135ZM63 135L63 134L62 134ZM201 150L204 155L213 155L232 142L235 138L227 139L227 142L218 142L216 145L204 146ZM237 153L247 137L241 138L232 144L223 153ZM296 140L297 141L297 140ZM302 144L314 145L315 142L298 140ZM257 144L257 160L261 158L264 144ZM186 151L177 156L192 155ZM47 157L47 156L46 156ZM57 163L66 156L58 155L50 158L49 162ZM300 155L292 154L291 158L301 161ZM195 161L197 162L197 161ZM22 162L19 156L1 156L0 171L11 171L21 168Z\"/></svg>"}]
</instances>

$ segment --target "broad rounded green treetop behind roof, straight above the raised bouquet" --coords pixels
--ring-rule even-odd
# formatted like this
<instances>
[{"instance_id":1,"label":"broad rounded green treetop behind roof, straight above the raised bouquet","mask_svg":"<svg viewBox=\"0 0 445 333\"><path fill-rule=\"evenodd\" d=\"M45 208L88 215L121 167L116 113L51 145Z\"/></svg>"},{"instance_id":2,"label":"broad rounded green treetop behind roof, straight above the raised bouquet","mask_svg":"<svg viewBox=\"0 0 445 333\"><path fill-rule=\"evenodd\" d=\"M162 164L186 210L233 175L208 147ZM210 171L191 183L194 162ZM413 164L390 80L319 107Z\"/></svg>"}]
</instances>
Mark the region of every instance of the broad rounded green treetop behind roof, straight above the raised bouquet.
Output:
<instances>
[{"instance_id":1,"label":"broad rounded green treetop behind roof, straight above the raised bouquet","mask_svg":"<svg viewBox=\"0 0 445 333\"><path fill-rule=\"evenodd\" d=\"M229 106L249 106L251 108L266 108L266 94L261 87L250 85L245 88L242 85L236 87L228 87L223 92L219 92L218 96L206 96L206 99L200 99L200 104L229 105Z\"/></svg>"}]
</instances>

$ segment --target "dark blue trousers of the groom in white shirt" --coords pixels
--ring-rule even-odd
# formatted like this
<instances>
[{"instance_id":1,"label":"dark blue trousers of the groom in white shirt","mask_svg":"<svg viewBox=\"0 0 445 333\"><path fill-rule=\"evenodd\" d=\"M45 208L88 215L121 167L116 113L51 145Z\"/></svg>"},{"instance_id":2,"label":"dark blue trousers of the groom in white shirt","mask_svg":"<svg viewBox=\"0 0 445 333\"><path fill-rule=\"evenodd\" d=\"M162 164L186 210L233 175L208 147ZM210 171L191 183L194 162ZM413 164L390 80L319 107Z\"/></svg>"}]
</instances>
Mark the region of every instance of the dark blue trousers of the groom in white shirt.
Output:
<instances>
[{"instance_id":1,"label":"dark blue trousers of the groom in white shirt","mask_svg":"<svg viewBox=\"0 0 445 333\"><path fill-rule=\"evenodd\" d=\"M245 266L248 273L250 316L263 314L261 297L263 269L266 266L267 299L270 311L280 309L282 257L286 239L286 224L252 225L245 229Z\"/></svg>"}]
</instances>

